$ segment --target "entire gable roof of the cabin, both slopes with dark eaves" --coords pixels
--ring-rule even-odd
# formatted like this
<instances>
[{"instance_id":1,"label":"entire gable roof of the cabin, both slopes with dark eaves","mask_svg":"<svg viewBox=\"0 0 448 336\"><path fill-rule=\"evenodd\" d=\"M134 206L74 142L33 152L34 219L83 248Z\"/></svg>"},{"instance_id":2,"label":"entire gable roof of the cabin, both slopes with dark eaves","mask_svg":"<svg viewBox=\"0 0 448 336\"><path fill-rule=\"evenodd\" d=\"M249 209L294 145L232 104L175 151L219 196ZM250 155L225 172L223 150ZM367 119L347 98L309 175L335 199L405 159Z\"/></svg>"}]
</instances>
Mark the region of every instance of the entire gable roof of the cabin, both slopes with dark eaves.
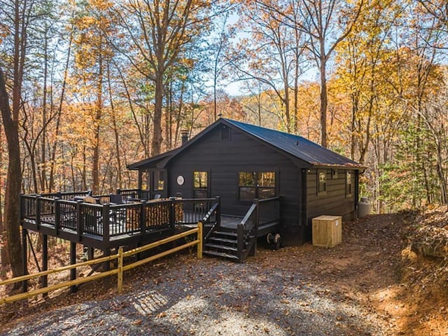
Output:
<instances>
[{"instance_id":1,"label":"entire gable roof of the cabin, both slopes with dark eaves","mask_svg":"<svg viewBox=\"0 0 448 336\"><path fill-rule=\"evenodd\" d=\"M202 130L199 134L195 135L190 141L185 145L178 147L169 152L159 154L158 156L153 156L152 158L142 160L136 163L132 163L127 168L138 169L149 164L157 164L157 166L165 167L165 165L174 156L183 152L184 149L190 147L195 142L200 140L204 135L209 133L218 125L224 124L230 128L237 128L242 132L254 137L257 140L265 142L267 145L274 147L274 149L283 154L289 154L297 159L300 159L311 166L327 166L327 167L345 167L345 168L364 168L359 163L346 158L340 154L330 151L321 145L316 144L307 140L300 135L293 135L290 133L281 132L279 130L272 130L270 128L263 128L260 126L255 126L250 123L241 123L240 121L235 121L232 119L220 118L210 126Z\"/></svg>"}]
</instances>

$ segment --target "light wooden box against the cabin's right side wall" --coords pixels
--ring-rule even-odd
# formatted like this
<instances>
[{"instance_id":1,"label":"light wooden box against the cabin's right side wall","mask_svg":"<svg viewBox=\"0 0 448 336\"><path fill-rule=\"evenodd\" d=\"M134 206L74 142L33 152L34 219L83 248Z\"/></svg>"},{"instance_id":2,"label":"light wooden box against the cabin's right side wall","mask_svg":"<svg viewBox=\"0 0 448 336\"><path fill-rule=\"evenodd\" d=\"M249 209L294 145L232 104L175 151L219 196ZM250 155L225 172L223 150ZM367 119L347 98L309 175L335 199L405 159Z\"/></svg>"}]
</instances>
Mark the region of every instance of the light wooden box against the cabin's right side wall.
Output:
<instances>
[{"instance_id":1,"label":"light wooden box against the cabin's right side wall","mask_svg":"<svg viewBox=\"0 0 448 336\"><path fill-rule=\"evenodd\" d=\"M312 223L314 246L332 248L342 242L341 216L319 216Z\"/></svg>"}]
</instances>

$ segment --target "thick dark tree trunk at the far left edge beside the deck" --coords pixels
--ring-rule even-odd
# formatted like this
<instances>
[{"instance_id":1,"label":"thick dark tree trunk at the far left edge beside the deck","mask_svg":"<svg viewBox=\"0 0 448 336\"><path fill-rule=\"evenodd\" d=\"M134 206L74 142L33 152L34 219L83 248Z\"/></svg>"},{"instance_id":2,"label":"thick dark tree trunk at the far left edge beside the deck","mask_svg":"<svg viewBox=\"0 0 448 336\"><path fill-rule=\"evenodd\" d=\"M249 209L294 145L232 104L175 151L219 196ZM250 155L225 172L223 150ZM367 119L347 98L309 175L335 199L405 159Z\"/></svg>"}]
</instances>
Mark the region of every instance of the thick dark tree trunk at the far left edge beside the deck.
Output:
<instances>
[{"instance_id":1,"label":"thick dark tree trunk at the far left edge beside the deck","mask_svg":"<svg viewBox=\"0 0 448 336\"><path fill-rule=\"evenodd\" d=\"M19 91L20 92L20 91ZM0 109L8 143L8 177L6 180L4 226L6 250L13 276L23 274L22 243L20 241L20 144L18 118L11 114L3 70L0 69Z\"/></svg>"}]
</instances>

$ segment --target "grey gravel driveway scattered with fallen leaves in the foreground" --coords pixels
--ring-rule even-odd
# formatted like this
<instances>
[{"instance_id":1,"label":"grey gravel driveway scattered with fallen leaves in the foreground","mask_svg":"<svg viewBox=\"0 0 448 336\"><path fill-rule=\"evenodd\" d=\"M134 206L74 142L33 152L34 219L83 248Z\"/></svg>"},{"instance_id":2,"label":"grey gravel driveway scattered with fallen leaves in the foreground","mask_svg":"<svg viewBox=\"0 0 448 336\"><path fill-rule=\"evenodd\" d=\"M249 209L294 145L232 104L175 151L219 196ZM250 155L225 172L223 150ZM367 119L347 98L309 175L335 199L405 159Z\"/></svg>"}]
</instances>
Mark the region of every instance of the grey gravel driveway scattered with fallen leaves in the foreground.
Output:
<instances>
[{"instance_id":1,"label":"grey gravel driveway scattered with fallen leaves in the foreground","mask_svg":"<svg viewBox=\"0 0 448 336\"><path fill-rule=\"evenodd\" d=\"M245 264L182 255L138 280L125 273L123 295L29 316L1 335L393 335L386 316L272 262L275 253Z\"/></svg>"}]
</instances>

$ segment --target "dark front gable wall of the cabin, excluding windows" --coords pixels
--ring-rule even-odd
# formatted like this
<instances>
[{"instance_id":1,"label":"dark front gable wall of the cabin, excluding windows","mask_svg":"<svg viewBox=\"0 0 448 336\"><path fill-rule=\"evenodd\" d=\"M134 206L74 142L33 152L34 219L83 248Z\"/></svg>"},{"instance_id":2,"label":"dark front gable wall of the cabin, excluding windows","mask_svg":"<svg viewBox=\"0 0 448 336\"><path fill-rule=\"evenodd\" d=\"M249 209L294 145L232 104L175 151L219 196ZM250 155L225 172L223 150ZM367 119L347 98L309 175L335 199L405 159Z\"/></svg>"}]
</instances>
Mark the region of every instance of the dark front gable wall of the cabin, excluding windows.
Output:
<instances>
[{"instance_id":1,"label":"dark front gable wall of the cabin, excluding windows","mask_svg":"<svg viewBox=\"0 0 448 336\"><path fill-rule=\"evenodd\" d=\"M221 140L217 127L169 161L168 192L169 196L193 197L193 172L207 171L208 196L221 196L223 214L243 216L251 202L238 200L238 173L274 171L276 195L281 196L282 231L300 234L301 170L296 164L297 160L291 161L239 130L232 129L230 140ZM179 175L184 178L182 185L177 183Z\"/></svg>"}]
</instances>

